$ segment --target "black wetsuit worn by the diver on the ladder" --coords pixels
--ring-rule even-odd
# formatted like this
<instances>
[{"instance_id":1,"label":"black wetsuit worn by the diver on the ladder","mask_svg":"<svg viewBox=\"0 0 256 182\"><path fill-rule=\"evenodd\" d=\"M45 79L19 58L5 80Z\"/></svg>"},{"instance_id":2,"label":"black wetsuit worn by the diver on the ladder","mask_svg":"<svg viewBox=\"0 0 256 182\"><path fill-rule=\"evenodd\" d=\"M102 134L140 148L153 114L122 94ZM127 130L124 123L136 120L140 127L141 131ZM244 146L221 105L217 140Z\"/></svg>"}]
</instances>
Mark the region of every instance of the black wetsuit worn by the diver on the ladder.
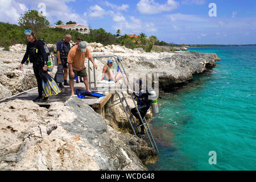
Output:
<instances>
[{"instance_id":1,"label":"black wetsuit worn by the diver on the ladder","mask_svg":"<svg viewBox=\"0 0 256 182\"><path fill-rule=\"evenodd\" d=\"M147 89L146 89L146 93L142 93L141 90L139 90L139 93L136 94L135 92L133 92L133 94L135 95L135 100L137 100L137 107L139 110L139 113L141 114L142 119L144 118L144 116L146 115L148 109L150 109L151 106L151 102L150 100L148 100L148 96L150 96L150 93L148 93ZM133 109L131 109L131 113L139 119L139 124L142 125L141 119L139 118L139 114L137 113L137 109L136 107L134 107ZM141 126L141 132L144 133L144 126Z\"/></svg>"}]
</instances>

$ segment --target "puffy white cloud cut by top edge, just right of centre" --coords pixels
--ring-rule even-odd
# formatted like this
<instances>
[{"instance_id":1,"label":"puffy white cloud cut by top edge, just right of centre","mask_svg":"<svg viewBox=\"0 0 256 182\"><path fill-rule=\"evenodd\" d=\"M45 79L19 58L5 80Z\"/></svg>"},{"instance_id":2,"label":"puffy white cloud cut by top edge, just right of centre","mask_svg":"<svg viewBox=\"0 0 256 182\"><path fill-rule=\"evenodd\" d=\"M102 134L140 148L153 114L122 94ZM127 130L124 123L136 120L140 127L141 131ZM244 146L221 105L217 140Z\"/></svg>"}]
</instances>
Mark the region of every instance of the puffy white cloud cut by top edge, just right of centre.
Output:
<instances>
[{"instance_id":1,"label":"puffy white cloud cut by top edge, just right of centre","mask_svg":"<svg viewBox=\"0 0 256 182\"><path fill-rule=\"evenodd\" d=\"M137 4L137 9L141 14L158 14L163 11L172 11L179 7L179 2L168 0L165 4L159 4L154 0L141 0Z\"/></svg>"}]
</instances>

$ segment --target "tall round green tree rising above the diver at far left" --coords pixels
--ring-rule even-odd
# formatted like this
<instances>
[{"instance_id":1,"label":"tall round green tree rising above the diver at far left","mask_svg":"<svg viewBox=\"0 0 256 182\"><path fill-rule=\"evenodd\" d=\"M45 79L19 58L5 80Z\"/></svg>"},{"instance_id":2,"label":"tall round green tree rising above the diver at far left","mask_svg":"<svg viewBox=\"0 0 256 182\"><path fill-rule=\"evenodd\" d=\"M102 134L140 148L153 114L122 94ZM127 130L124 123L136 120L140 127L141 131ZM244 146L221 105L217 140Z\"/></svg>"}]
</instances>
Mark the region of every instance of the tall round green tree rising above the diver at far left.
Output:
<instances>
[{"instance_id":1,"label":"tall round green tree rising above the diver at far left","mask_svg":"<svg viewBox=\"0 0 256 182\"><path fill-rule=\"evenodd\" d=\"M30 29L40 37L40 32L44 31L49 25L45 16L39 16L38 11L28 10L19 17L19 26L22 29Z\"/></svg>"}]
</instances>

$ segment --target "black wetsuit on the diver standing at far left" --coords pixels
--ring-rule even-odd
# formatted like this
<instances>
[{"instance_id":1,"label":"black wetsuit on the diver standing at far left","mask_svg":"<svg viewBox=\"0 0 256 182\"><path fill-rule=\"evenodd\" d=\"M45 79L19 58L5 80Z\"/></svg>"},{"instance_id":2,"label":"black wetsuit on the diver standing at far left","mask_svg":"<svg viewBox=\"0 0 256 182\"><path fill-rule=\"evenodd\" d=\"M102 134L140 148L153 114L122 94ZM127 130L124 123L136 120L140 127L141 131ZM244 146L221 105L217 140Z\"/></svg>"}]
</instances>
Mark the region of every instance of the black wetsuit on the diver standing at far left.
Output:
<instances>
[{"instance_id":1,"label":"black wetsuit on the diver standing at far left","mask_svg":"<svg viewBox=\"0 0 256 182\"><path fill-rule=\"evenodd\" d=\"M36 52L36 49L38 51ZM38 82L38 94L42 96L43 94L43 86L42 86L42 78L40 73L43 70L44 65L47 64L47 55L44 50L44 44L40 40L35 40L34 42L28 42L26 53L23 57L22 64L28 59L28 55L30 56L30 63L33 63L34 74L36 77L36 81Z\"/></svg>"}]
</instances>

